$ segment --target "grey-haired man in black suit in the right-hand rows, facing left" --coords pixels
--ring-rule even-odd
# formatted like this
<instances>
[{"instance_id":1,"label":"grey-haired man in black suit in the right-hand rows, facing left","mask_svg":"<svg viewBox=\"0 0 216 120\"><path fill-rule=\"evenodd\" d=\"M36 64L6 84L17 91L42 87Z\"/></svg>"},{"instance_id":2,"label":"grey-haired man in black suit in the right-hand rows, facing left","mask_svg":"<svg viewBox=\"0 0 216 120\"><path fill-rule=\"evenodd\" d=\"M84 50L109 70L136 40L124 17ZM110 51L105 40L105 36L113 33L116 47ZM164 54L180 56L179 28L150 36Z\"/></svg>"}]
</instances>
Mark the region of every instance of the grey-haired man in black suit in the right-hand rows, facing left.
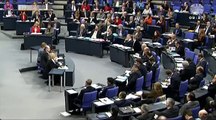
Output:
<instances>
[{"instance_id":1,"label":"grey-haired man in black suit in the right-hand rows, facing left","mask_svg":"<svg viewBox=\"0 0 216 120\"><path fill-rule=\"evenodd\" d=\"M188 61L183 61L182 62L182 65L183 65L183 69L180 70L180 77L181 77L181 81L185 81L185 80L189 80L192 76L191 74L191 70L189 68L189 63Z\"/></svg>"}]
</instances>

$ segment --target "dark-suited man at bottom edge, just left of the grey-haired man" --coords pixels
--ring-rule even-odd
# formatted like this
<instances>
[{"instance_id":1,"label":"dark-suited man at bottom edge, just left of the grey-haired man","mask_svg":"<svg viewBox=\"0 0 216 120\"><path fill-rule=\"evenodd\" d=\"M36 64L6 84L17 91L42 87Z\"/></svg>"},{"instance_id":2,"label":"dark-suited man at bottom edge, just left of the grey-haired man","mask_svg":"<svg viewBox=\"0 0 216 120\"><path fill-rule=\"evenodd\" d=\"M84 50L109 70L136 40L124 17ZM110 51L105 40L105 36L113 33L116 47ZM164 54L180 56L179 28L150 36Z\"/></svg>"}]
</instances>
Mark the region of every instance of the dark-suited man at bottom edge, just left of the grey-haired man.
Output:
<instances>
[{"instance_id":1,"label":"dark-suited man at bottom edge, just left of the grey-haired man","mask_svg":"<svg viewBox=\"0 0 216 120\"><path fill-rule=\"evenodd\" d=\"M138 120L152 120L154 117L153 113L149 112L148 105L143 104L141 106L141 115L137 116Z\"/></svg>"}]
</instances>

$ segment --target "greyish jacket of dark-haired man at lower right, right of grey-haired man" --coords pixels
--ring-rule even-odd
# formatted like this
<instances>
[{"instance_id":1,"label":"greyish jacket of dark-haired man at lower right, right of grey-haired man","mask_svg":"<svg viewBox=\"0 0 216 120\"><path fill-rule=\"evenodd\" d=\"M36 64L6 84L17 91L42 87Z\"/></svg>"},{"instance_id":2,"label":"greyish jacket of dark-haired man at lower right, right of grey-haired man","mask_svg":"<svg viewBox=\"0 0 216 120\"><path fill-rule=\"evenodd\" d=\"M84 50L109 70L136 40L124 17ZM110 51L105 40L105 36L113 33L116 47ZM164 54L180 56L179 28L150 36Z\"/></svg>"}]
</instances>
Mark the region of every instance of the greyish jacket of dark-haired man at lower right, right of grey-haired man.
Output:
<instances>
[{"instance_id":1,"label":"greyish jacket of dark-haired man at lower right, right of grey-haired man","mask_svg":"<svg viewBox=\"0 0 216 120\"><path fill-rule=\"evenodd\" d=\"M183 115L186 110L190 110L192 108L195 108L199 105L199 101L191 101L191 102L187 102L185 103L179 110L179 114Z\"/></svg>"}]
</instances>

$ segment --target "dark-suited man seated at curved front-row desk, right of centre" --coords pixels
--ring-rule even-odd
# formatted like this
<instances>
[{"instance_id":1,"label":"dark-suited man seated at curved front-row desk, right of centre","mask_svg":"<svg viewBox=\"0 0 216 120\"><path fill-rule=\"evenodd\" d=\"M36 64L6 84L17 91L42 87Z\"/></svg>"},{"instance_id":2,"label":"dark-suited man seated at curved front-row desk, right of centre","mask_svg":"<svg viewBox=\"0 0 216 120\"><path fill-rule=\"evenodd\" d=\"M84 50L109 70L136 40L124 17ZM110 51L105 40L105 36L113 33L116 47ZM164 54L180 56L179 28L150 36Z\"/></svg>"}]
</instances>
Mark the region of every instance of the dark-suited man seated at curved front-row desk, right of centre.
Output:
<instances>
[{"instance_id":1,"label":"dark-suited man seated at curved front-row desk, right of centre","mask_svg":"<svg viewBox=\"0 0 216 120\"><path fill-rule=\"evenodd\" d=\"M128 77L127 90L129 92L135 91L136 88L136 80L140 78L142 74L139 71L138 65L134 64L131 68L130 76Z\"/></svg>"}]
</instances>

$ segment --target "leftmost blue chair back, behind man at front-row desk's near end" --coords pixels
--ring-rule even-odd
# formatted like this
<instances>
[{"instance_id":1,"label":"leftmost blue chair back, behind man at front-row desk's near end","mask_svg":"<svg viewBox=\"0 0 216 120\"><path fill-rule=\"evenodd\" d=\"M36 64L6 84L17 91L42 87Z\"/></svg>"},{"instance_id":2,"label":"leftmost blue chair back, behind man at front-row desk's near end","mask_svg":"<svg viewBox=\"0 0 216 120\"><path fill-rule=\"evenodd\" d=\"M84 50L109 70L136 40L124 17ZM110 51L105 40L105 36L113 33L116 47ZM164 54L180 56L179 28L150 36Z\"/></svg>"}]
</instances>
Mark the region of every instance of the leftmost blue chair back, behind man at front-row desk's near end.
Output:
<instances>
[{"instance_id":1,"label":"leftmost blue chair back, behind man at front-row desk's near end","mask_svg":"<svg viewBox=\"0 0 216 120\"><path fill-rule=\"evenodd\" d=\"M91 108L92 102L96 99L97 99L97 91L84 93L82 99L82 108L83 109Z\"/></svg>"}]
</instances>

